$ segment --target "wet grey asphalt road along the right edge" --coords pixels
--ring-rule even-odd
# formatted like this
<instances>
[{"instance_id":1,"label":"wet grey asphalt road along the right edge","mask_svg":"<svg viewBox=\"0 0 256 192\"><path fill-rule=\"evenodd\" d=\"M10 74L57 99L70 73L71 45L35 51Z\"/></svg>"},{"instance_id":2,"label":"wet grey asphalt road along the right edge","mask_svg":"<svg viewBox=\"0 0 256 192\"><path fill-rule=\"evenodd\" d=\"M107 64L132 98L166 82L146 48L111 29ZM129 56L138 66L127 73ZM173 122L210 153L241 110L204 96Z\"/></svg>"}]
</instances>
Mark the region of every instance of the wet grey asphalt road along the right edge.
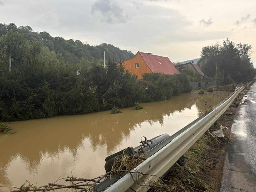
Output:
<instances>
[{"instance_id":1,"label":"wet grey asphalt road along the right edge","mask_svg":"<svg viewBox=\"0 0 256 192\"><path fill-rule=\"evenodd\" d=\"M232 125L221 192L256 192L256 83L244 96Z\"/></svg>"}]
</instances>

